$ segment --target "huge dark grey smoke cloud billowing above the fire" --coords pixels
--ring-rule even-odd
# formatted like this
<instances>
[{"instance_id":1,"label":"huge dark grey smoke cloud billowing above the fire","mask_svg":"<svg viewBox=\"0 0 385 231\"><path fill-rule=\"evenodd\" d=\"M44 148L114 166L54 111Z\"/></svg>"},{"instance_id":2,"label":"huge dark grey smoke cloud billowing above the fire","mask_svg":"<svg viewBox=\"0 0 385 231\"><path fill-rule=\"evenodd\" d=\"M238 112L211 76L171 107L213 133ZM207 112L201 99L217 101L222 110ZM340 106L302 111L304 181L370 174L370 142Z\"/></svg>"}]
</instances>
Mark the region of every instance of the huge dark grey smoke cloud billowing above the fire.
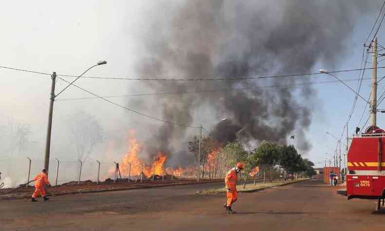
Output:
<instances>
[{"instance_id":1,"label":"huge dark grey smoke cloud billowing above the fire","mask_svg":"<svg viewBox=\"0 0 385 231\"><path fill-rule=\"evenodd\" d=\"M376 3L377 4L377 3ZM344 55L347 39L362 14L375 9L364 0L187 0L158 3L159 14L147 16L140 38L144 58L140 77L231 78L308 72L317 62L333 66ZM273 90L269 84L306 82L303 78L250 81L146 82L156 92L223 89L210 94L159 97L150 104L162 118L196 125L193 115L209 110L228 115L214 127L219 141L271 140L286 143L296 135L297 147L308 152L305 134L311 124L309 103L316 91L309 85ZM239 87L257 87L232 90ZM297 100L301 97L301 100ZM146 102L148 108L149 102ZM131 104L132 106L132 104ZM135 105L144 109L142 103ZM210 118L208 118L210 119ZM212 121L206 121L210 123ZM200 122L199 122L200 123ZM198 123L198 124L199 124ZM147 152L177 153L186 144L186 129L154 125ZM183 159L184 157L175 157Z\"/></svg>"}]
</instances>

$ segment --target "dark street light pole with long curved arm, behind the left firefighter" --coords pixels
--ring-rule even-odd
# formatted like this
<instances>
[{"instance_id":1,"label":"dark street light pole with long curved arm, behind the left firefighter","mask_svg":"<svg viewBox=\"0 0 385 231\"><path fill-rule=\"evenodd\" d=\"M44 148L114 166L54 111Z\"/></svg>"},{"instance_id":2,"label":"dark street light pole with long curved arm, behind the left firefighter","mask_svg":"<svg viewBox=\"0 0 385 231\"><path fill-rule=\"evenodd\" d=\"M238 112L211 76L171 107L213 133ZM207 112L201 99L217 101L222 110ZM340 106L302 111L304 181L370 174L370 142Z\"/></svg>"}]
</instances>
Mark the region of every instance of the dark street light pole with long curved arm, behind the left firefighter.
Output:
<instances>
[{"instance_id":1,"label":"dark street light pole with long curved arm, behind the left firefighter","mask_svg":"<svg viewBox=\"0 0 385 231\"><path fill-rule=\"evenodd\" d=\"M67 89L70 85L72 85L78 78L83 76L87 71L89 71L91 68L107 64L107 61L102 60L98 61L95 65L88 68L85 72L83 72L80 76L78 76L74 81L72 81L70 84L68 84L63 90L61 90L57 95L55 95L55 83L56 83L56 72L52 74L52 84L51 84L51 97L50 97L50 106L49 106L49 112L48 112L48 126L47 126L47 137L45 142L45 154L44 154L44 168L48 172L49 168L49 155L51 150L51 132L52 132L52 116L54 111L54 101L55 98L58 97L65 89Z\"/></svg>"}]
</instances>

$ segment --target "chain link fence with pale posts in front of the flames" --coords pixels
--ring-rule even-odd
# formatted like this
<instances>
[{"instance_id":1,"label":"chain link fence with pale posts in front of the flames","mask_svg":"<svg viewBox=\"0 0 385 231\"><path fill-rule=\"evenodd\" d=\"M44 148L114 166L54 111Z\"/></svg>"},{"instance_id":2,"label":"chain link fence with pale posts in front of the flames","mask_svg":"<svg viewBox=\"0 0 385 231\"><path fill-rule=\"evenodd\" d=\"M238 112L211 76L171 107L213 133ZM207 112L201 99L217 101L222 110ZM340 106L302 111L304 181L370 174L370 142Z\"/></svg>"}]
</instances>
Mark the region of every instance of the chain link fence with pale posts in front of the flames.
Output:
<instances>
[{"instance_id":1,"label":"chain link fence with pale posts in front of the flames","mask_svg":"<svg viewBox=\"0 0 385 231\"><path fill-rule=\"evenodd\" d=\"M43 159L30 157L2 156L0 157L0 183L4 183L4 188L13 188L32 180L35 175L41 172L44 167ZM141 166L132 166L140 168ZM194 167L166 167L162 166L162 173L156 175L143 173L135 175L133 172L124 171L120 174L116 171L116 162L104 162L99 160L69 160L55 158L52 156L49 162L48 179L51 185L56 186L64 183L80 184L84 181L102 182L110 178L116 181L117 178L130 178L131 181L140 179L147 181L170 181L182 179L196 179L197 171ZM202 169L200 178L202 179ZM223 173L222 173L223 174ZM218 176L221 176L218 172ZM212 179L212 174L205 174L203 179ZM219 178L219 177L214 177ZM33 183L31 183L33 185Z\"/></svg>"}]
</instances>

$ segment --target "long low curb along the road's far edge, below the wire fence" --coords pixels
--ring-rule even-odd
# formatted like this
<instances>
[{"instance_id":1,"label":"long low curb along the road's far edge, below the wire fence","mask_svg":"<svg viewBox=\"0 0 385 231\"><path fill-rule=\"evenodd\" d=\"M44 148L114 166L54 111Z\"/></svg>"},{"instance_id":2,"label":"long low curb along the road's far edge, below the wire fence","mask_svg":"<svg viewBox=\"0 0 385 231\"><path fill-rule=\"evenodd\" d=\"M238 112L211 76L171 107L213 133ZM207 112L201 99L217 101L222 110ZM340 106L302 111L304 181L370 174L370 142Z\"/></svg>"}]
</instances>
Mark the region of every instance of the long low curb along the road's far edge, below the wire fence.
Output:
<instances>
[{"instance_id":1,"label":"long low curb along the road's far edge, below the wire fence","mask_svg":"<svg viewBox=\"0 0 385 231\"><path fill-rule=\"evenodd\" d=\"M89 190L81 192L66 192L66 193L47 193L47 196L59 196L59 195L72 195L72 194L82 194L82 193L104 193L104 192L115 192L115 191L126 191L134 189L151 189L151 188L161 188L161 187L170 187L170 186L179 186L179 185L196 185L196 184L210 184L210 183L219 183L223 180L214 180L210 182L190 182L190 183L181 183L181 184L166 184L166 185L154 185L154 186L135 186L129 188L119 188L119 189L101 189L101 190ZM20 200L20 199L30 199L31 196L12 196L12 197L0 197L1 200Z\"/></svg>"}]
</instances>

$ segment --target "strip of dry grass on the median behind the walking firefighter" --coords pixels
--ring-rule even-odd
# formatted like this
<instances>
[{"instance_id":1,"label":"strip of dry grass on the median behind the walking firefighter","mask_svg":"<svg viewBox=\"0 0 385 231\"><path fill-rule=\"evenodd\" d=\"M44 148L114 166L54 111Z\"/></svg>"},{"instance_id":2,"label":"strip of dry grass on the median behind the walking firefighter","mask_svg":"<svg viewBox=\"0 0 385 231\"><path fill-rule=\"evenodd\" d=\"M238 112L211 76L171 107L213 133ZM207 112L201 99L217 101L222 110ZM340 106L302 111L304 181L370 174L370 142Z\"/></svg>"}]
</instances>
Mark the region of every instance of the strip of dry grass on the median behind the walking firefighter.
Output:
<instances>
[{"instance_id":1,"label":"strip of dry grass on the median behind the walking firefighter","mask_svg":"<svg viewBox=\"0 0 385 231\"><path fill-rule=\"evenodd\" d=\"M262 190L262 189L265 189L265 188L285 185L285 184L288 184L288 183L299 182L299 181L302 181L302 180L304 180L304 179L287 180L287 181L284 181L284 180L278 181L278 180L276 180L276 181L272 181L272 182L266 181L265 184L263 182L258 182L255 185L254 185L254 183L248 183L248 184L246 184L245 188L243 188L243 184L239 183L239 184L237 184L237 191L238 192L250 192L250 191L255 191L255 190ZM204 190L204 191L199 191L199 192L196 192L196 194L219 194L219 193L225 193L225 192L226 192L226 189L223 187L223 188L207 189L207 190Z\"/></svg>"}]
</instances>

